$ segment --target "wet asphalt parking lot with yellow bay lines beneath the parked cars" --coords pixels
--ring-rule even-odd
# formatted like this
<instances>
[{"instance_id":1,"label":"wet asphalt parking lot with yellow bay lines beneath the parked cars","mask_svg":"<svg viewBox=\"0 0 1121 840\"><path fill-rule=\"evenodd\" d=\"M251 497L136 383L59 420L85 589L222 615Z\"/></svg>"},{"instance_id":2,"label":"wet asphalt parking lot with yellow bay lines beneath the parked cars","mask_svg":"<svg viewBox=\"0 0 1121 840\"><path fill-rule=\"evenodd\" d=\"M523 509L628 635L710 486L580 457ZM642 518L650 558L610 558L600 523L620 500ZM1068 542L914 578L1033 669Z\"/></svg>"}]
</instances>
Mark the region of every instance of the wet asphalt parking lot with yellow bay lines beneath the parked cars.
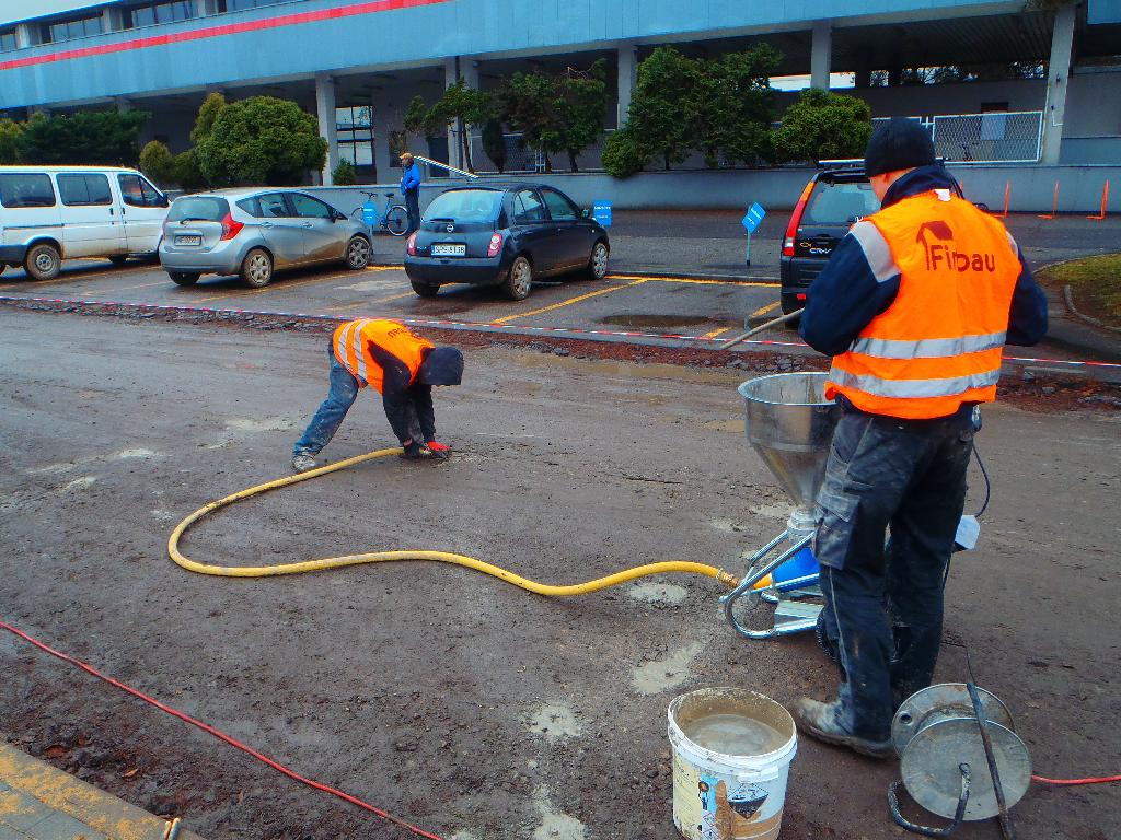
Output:
<instances>
[{"instance_id":1,"label":"wet asphalt parking lot with yellow bay lines beneath the parked cars","mask_svg":"<svg viewBox=\"0 0 1121 840\"><path fill-rule=\"evenodd\" d=\"M0 277L0 296L75 301L139 302L200 309L312 314L335 318L390 317L418 324L453 321L532 334L556 330L597 334L621 340L685 336L697 346L720 342L779 314L778 245L786 216L768 216L753 236L752 262L743 264L745 237L739 216L728 212L620 212L612 226L611 272L602 282L574 278L536 283L522 301L506 300L494 289L444 287L435 299L413 293L400 269L404 243L379 237L378 263L363 272L340 267L278 273L263 289L237 278L203 278L180 288L158 264L73 261L53 281L33 282L21 270ZM1093 222L1082 216L1041 220L1015 215L1009 228L1029 260L1047 264L1117 249L1121 220ZM1053 300L1051 330L1040 347L1010 348L1008 356L1121 362L1115 334L1087 328ZM639 335L624 335L639 334ZM777 328L761 340L800 344L796 333ZM808 348L791 352L810 353ZM1031 363L1034 364L1034 363ZM1071 367L1071 366L1067 366ZM1077 367L1071 367L1077 372ZM1112 374L1103 374L1112 375Z\"/></svg>"}]
</instances>

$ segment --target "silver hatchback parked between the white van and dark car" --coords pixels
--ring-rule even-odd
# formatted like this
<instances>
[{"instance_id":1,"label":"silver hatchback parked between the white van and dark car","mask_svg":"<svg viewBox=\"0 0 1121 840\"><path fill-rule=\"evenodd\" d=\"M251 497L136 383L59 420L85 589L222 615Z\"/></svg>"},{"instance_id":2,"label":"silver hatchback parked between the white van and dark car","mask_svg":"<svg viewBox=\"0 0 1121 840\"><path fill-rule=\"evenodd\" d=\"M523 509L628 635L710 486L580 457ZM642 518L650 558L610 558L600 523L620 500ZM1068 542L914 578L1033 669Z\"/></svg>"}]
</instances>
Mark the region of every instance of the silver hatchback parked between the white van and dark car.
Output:
<instances>
[{"instance_id":1,"label":"silver hatchback parked between the white van and dark car","mask_svg":"<svg viewBox=\"0 0 1121 840\"><path fill-rule=\"evenodd\" d=\"M279 269L344 262L364 269L370 228L298 189L254 187L176 198L164 223L159 261L179 286L201 274L238 274L267 286Z\"/></svg>"}]
</instances>

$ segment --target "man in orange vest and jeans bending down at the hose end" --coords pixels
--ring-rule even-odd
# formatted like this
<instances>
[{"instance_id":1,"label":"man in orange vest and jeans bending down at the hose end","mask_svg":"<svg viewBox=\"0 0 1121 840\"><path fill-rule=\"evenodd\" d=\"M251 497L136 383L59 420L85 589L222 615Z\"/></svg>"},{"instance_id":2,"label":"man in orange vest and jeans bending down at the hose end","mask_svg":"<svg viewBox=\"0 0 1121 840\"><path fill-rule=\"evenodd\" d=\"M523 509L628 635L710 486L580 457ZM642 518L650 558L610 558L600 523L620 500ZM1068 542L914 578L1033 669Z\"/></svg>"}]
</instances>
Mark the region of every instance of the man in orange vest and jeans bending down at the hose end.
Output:
<instances>
[{"instance_id":1,"label":"man in orange vest and jeans bending down at the hose end","mask_svg":"<svg viewBox=\"0 0 1121 840\"><path fill-rule=\"evenodd\" d=\"M451 447L436 440L433 385L458 385L463 354L436 347L395 320L360 318L339 327L327 347L331 389L304 437L296 441L291 467L305 473L334 437L360 389L381 393L389 424L401 441L404 457L446 457Z\"/></svg>"}]
</instances>

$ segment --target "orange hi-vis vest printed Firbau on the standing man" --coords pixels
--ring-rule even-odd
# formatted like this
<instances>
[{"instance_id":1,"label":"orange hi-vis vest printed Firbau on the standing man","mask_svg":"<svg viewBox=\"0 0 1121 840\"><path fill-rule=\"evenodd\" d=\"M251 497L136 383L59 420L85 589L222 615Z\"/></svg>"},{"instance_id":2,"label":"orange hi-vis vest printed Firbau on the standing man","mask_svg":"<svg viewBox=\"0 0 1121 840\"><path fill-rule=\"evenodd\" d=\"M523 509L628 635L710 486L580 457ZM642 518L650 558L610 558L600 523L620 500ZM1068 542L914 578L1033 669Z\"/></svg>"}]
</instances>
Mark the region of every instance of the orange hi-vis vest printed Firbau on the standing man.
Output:
<instances>
[{"instance_id":1,"label":"orange hi-vis vest printed Firbau on the standing man","mask_svg":"<svg viewBox=\"0 0 1121 840\"><path fill-rule=\"evenodd\" d=\"M853 225L877 280L899 292L833 358L825 396L906 419L946 417L997 399L1020 274L1003 225L948 190L904 198Z\"/></svg>"}]
</instances>

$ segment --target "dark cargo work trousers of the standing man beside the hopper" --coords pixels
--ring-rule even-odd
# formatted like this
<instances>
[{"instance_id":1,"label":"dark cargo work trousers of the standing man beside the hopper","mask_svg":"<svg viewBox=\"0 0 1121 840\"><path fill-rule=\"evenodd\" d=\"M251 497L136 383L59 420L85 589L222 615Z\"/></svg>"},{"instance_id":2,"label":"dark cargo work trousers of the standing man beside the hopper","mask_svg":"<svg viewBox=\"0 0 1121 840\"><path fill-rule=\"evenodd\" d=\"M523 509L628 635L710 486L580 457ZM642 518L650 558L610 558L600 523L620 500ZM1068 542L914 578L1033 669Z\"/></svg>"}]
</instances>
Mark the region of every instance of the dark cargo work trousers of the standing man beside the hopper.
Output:
<instances>
[{"instance_id":1,"label":"dark cargo work trousers of the standing man beside the hopper","mask_svg":"<svg viewBox=\"0 0 1121 840\"><path fill-rule=\"evenodd\" d=\"M814 553L824 631L843 672L837 720L853 735L890 737L898 703L934 676L972 451L967 410L900 420L849 409L837 423Z\"/></svg>"}]
</instances>

